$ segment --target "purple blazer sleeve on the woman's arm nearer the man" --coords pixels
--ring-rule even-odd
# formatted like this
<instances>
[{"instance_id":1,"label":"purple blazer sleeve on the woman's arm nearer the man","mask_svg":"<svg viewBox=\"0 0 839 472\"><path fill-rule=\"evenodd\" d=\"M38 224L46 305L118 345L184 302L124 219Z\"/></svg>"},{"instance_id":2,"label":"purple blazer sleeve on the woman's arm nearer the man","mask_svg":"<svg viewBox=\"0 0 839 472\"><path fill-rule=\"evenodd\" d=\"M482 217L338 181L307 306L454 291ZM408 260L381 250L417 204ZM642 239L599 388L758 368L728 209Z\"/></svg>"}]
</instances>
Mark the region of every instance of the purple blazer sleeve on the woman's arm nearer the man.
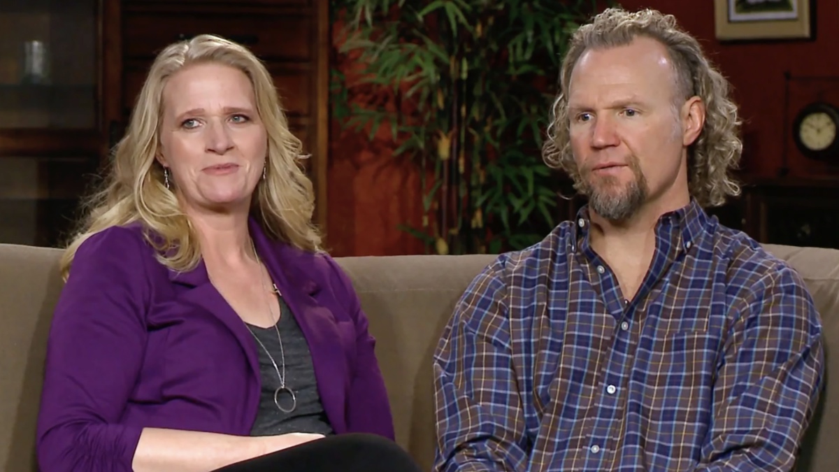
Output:
<instances>
[{"instance_id":1,"label":"purple blazer sleeve on the woman's arm nearer the man","mask_svg":"<svg viewBox=\"0 0 839 472\"><path fill-rule=\"evenodd\" d=\"M347 430L394 439L388 392L376 359L376 339L367 331L367 315L349 277L330 256L326 260L331 265L338 302L348 307L356 325L356 363L347 395Z\"/></svg>"}]
</instances>

